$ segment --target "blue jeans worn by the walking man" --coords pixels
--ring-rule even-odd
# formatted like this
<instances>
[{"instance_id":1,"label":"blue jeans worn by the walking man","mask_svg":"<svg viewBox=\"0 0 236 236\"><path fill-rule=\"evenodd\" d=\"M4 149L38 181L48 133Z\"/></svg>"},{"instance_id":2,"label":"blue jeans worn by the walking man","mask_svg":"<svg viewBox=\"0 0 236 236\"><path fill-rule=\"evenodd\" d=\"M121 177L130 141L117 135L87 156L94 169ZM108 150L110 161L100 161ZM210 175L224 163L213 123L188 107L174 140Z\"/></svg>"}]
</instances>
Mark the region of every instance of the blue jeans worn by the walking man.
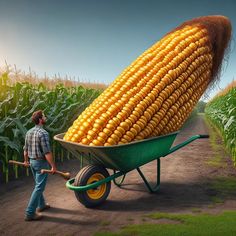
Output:
<instances>
[{"instance_id":1,"label":"blue jeans worn by the walking man","mask_svg":"<svg viewBox=\"0 0 236 236\"><path fill-rule=\"evenodd\" d=\"M48 174L41 174L40 170L48 169L49 165L46 160L30 160L30 167L35 180L35 186L26 208L27 216L33 216L37 207L43 208L45 206L43 191L47 183Z\"/></svg>"}]
</instances>

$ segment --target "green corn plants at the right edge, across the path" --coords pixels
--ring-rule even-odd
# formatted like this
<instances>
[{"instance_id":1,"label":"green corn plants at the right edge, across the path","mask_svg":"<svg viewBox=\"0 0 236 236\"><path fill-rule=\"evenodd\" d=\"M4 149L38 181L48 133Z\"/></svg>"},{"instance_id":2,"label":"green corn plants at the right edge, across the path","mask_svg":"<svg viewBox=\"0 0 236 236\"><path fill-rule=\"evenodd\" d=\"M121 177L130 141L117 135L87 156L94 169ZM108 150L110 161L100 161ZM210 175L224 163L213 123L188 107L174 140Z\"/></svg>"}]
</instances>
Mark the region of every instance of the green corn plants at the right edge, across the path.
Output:
<instances>
[{"instance_id":1,"label":"green corn plants at the right edge, across the path","mask_svg":"<svg viewBox=\"0 0 236 236\"><path fill-rule=\"evenodd\" d=\"M205 109L210 123L218 129L223 136L225 146L231 153L236 164L236 86L227 86L211 100Z\"/></svg>"}]
</instances>

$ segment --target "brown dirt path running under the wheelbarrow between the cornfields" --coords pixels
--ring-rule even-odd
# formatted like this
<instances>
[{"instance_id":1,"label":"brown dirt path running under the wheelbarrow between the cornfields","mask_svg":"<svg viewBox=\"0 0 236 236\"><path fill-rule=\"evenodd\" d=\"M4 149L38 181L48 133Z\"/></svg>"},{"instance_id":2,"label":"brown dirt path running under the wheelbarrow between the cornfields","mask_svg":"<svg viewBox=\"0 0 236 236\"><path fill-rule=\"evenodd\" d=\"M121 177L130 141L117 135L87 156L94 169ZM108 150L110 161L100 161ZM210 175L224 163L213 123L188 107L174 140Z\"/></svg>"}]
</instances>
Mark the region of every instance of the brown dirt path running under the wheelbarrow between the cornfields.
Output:
<instances>
[{"instance_id":1,"label":"brown dirt path running under the wheelbarrow between the cornfields","mask_svg":"<svg viewBox=\"0 0 236 236\"><path fill-rule=\"evenodd\" d=\"M178 135L176 144L191 135L207 134L202 117L197 117ZM45 196L52 208L40 222L25 222L24 210L29 200L33 181L23 178L0 186L0 235L93 235L101 230L118 230L127 224L147 222L151 212L218 212L236 210L236 194L222 204L213 204L217 192L209 182L216 176L235 174L230 158L222 151L226 167L206 164L215 153L209 140L196 140L179 151L161 159L161 189L149 194L136 171L127 175L120 189L112 184L104 205L87 209L79 204L63 179L50 176ZM151 183L155 183L155 162L141 169ZM61 166L77 173L79 161L71 160Z\"/></svg>"}]
</instances>

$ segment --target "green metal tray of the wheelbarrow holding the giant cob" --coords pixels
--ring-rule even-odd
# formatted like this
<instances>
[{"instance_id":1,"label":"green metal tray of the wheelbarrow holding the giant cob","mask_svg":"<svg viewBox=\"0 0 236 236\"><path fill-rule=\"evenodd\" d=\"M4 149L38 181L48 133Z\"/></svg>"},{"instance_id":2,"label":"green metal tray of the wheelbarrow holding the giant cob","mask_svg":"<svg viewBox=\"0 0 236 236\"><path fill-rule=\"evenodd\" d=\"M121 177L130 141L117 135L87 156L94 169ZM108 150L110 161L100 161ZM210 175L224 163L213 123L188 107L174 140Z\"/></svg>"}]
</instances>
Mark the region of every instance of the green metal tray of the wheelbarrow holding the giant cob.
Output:
<instances>
[{"instance_id":1,"label":"green metal tray of the wheelbarrow holding the giant cob","mask_svg":"<svg viewBox=\"0 0 236 236\"><path fill-rule=\"evenodd\" d=\"M178 132L115 146L88 146L63 140L64 134L54 137L74 156L82 155L86 162L108 169L130 171L168 154Z\"/></svg>"}]
</instances>

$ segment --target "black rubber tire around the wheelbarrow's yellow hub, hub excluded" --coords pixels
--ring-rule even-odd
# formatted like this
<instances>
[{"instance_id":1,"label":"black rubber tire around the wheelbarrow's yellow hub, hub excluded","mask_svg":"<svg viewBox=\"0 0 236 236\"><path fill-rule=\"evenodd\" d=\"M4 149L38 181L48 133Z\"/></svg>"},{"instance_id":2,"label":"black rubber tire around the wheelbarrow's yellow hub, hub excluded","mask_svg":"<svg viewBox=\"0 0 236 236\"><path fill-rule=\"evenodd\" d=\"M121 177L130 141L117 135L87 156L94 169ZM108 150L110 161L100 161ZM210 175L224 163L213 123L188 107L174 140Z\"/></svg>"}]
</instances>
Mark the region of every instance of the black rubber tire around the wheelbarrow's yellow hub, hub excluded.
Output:
<instances>
[{"instance_id":1,"label":"black rubber tire around the wheelbarrow's yellow hub, hub excluded","mask_svg":"<svg viewBox=\"0 0 236 236\"><path fill-rule=\"evenodd\" d=\"M96 165L88 165L88 166L85 166L84 168L82 168L78 172L78 174L75 177L74 185L75 186L87 185L87 181L89 180L89 178L96 173L102 174L104 176L104 178L107 178L110 176L108 171L104 167L96 166ZM102 204L107 199L107 197L110 193L111 182L109 181L109 182L105 183L105 185L106 185L106 190L105 190L104 194L99 199L90 198L87 191L83 191L83 192L75 191L75 196L76 196L77 200L80 203L82 203L85 207L87 207L87 208L96 207L96 206Z\"/></svg>"}]
</instances>

